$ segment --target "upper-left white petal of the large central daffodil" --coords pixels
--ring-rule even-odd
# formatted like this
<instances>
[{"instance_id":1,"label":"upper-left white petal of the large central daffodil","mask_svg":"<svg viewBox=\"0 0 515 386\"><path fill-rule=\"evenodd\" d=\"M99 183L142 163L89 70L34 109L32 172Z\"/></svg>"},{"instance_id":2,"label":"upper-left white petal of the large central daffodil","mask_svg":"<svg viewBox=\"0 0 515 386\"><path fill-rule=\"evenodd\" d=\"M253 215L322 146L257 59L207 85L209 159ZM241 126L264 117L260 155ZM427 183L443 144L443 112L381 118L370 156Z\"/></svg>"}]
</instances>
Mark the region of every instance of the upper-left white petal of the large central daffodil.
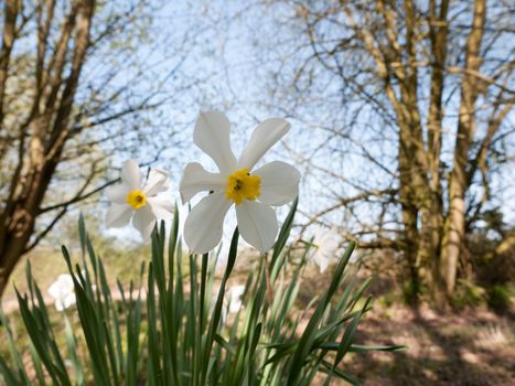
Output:
<instances>
[{"instance_id":1,"label":"upper-left white petal of the large central daffodil","mask_svg":"<svg viewBox=\"0 0 515 386\"><path fill-rule=\"evenodd\" d=\"M230 122L221 112L201 112L195 122L193 142L213 161L221 172L230 173L236 168L236 158L230 150Z\"/></svg>"}]
</instances>

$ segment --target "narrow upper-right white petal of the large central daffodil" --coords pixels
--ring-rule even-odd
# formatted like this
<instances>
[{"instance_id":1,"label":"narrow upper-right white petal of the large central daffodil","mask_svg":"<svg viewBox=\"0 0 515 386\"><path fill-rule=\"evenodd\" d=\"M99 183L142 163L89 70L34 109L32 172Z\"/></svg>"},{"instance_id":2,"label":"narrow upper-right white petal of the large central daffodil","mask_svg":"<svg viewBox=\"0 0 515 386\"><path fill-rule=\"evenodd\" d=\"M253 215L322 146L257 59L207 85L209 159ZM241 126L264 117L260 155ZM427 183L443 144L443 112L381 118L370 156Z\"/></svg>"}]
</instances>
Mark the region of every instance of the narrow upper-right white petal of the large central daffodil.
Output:
<instances>
[{"instance_id":1,"label":"narrow upper-right white petal of the large central daffodil","mask_svg":"<svg viewBox=\"0 0 515 386\"><path fill-rule=\"evenodd\" d=\"M290 124L285 119L270 118L260 122L239 158L238 169L248 168L251 170L268 149L276 144L288 130L290 130Z\"/></svg>"}]
</instances>

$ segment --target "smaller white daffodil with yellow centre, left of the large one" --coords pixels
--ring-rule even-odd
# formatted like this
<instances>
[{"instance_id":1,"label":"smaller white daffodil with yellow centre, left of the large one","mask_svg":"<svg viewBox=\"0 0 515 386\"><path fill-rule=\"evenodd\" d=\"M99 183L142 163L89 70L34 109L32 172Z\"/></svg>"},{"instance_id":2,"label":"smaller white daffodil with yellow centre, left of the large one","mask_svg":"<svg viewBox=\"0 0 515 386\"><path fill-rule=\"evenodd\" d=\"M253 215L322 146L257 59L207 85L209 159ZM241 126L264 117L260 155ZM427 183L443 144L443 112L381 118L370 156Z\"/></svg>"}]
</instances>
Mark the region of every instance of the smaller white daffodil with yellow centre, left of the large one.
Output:
<instances>
[{"instance_id":1,"label":"smaller white daffodil with yellow centre, left of the large one","mask_svg":"<svg viewBox=\"0 0 515 386\"><path fill-rule=\"evenodd\" d=\"M141 171L136 160L128 160L121 169L121 183L109 186L106 196L112 201L107 210L108 227L122 227L132 218L132 225L148 240L157 219L169 219L173 213L170 200L158 197L169 186L168 173L152 169L144 186L141 186Z\"/></svg>"}]
</instances>

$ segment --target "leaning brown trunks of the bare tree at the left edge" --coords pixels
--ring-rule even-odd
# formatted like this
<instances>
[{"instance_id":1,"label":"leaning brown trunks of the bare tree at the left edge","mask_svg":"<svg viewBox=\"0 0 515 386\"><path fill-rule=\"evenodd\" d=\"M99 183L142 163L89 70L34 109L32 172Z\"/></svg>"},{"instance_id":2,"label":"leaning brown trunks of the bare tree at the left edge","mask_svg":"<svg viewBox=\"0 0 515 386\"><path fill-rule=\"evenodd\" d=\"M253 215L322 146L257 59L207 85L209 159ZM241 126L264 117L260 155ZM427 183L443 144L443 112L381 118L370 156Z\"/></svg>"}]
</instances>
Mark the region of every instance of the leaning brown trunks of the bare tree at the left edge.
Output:
<instances>
[{"instance_id":1,"label":"leaning brown trunks of the bare tree at the left edge","mask_svg":"<svg viewBox=\"0 0 515 386\"><path fill-rule=\"evenodd\" d=\"M15 4L18 4L17 1L10 1L7 4L7 10L10 13L8 12L6 22L11 22L11 19L13 19L11 13L15 13ZM51 63L53 62L52 72L51 68L45 69L47 81L50 82L51 74L53 74L53 78L47 84L49 87L46 87L51 93L46 95L44 103L42 103L40 100L43 97L42 85L40 84L41 72L45 66L44 51L46 39L49 37L50 23L53 18L53 7L51 4L47 9L49 24L46 28L39 25L35 98L26 124L19 128L18 163L15 171L10 176L9 194L0 212L0 298L6 290L9 277L17 262L31 247L30 243L35 221L42 214L41 204L61 161L64 146L72 136L69 117L89 46L89 30L95 0L81 0L77 2L77 7L71 10L68 23L65 23L63 26L56 52L53 53L50 61ZM40 22L41 19L39 19ZM6 24L4 30L7 26ZM73 30L75 31L75 44L72 46L69 39L73 35ZM3 56L7 46L6 33L4 31ZM10 42L9 39L7 42ZM12 45L12 42L10 45ZM68 75L64 78L64 68L67 63L65 62L66 55L69 55L69 68L67 69ZM1 60L0 97L3 96L2 83L4 83L3 68L6 66L6 61ZM0 99L0 127L2 124L1 105ZM58 219L58 216L56 218ZM47 228L49 230L53 224L54 222L51 223ZM39 238L36 237L33 245L37 242Z\"/></svg>"}]
</instances>

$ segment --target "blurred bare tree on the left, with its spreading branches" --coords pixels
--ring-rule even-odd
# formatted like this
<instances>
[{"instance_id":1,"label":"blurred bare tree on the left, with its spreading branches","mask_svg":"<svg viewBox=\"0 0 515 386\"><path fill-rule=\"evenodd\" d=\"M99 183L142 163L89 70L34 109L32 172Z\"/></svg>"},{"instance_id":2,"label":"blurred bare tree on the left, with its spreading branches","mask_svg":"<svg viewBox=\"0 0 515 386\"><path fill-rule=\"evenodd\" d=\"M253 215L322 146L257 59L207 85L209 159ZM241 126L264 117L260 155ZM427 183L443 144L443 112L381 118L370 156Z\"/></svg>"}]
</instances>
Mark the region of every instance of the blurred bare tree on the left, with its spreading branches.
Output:
<instances>
[{"instance_id":1,"label":"blurred bare tree on the left, with its spreading branches","mask_svg":"<svg viewBox=\"0 0 515 386\"><path fill-rule=\"evenodd\" d=\"M160 34L155 43L160 7L3 2L0 296L20 257L73 205L114 182L106 176L115 149L118 156L146 149L142 161L150 163L179 140L180 128L163 126L155 111L193 83L178 76L189 37Z\"/></svg>"}]
</instances>

